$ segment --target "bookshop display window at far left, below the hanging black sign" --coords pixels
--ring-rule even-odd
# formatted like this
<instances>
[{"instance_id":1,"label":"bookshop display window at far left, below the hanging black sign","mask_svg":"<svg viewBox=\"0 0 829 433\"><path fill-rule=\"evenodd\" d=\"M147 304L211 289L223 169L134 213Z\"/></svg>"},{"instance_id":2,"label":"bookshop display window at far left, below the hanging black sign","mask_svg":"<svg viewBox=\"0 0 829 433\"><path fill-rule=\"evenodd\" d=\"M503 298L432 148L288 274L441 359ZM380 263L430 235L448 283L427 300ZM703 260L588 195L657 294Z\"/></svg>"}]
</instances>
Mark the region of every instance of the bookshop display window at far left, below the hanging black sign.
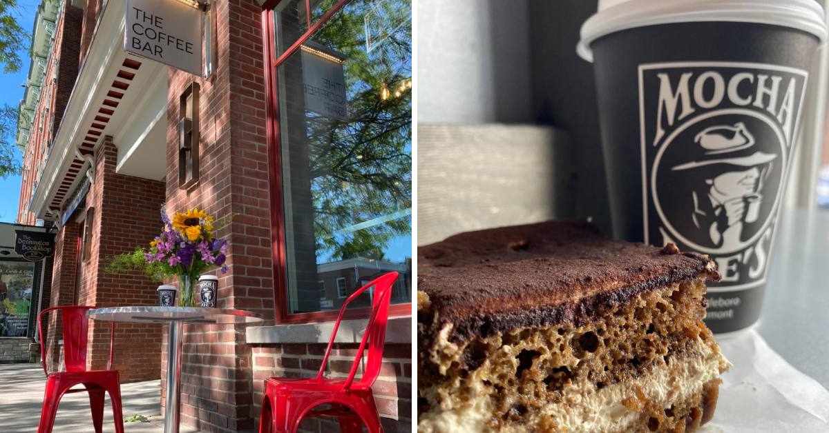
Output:
<instances>
[{"instance_id":1,"label":"bookshop display window at far left, below the hanging black sign","mask_svg":"<svg viewBox=\"0 0 829 433\"><path fill-rule=\"evenodd\" d=\"M34 276L32 262L0 261L0 336L26 336Z\"/></svg>"}]
</instances>

